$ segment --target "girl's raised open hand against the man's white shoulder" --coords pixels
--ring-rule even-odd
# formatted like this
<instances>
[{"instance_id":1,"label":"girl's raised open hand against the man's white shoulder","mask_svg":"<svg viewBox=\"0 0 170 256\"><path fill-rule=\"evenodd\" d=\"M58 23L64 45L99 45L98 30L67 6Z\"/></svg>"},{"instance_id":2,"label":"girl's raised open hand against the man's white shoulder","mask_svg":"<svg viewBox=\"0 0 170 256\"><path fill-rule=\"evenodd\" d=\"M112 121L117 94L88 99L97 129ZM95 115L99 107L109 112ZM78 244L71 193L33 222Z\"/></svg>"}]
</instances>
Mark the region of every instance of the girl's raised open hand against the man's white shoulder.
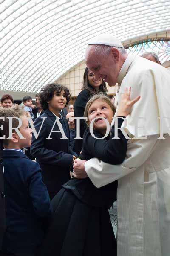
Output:
<instances>
[{"instance_id":1,"label":"girl's raised open hand against the man's white shoulder","mask_svg":"<svg viewBox=\"0 0 170 256\"><path fill-rule=\"evenodd\" d=\"M130 114L132 106L139 101L141 96L137 96L135 99L130 100L131 87L125 88L125 93L122 93L121 99L118 105L118 110L116 111L116 116L128 116Z\"/></svg>"}]
</instances>

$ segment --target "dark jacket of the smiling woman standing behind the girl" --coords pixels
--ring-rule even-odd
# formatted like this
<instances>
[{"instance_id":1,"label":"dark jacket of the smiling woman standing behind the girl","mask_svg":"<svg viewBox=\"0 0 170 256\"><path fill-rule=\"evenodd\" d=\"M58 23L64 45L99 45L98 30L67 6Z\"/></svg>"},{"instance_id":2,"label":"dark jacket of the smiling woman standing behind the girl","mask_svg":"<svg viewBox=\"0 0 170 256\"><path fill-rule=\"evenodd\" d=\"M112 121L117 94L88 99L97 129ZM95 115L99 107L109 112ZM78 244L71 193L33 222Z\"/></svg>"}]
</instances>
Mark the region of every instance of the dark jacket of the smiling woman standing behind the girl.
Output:
<instances>
[{"instance_id":1,"label":"dark jacket of the smiling woman standing behind the girl","mask_svg":"<svg viewBox=\"0 0 170 256\"><path fill-rule=\"evenodd\" d=\"M79 95L77 96L75 102L74 102L74 117L83 117L84 111L85 111L85 105L88 102L89 98L91 97L92 93L90 93L89 90L85 89L82 90ZM75 124L75 135L74 138L77 137L77 120L74 120ZM85 129L87 128L87 125L85 123L84 119L80 119L80 137L83 137L83 134L85 132ZM82 139L74 139L74 146L73 151L77 153L79 156L80 152L82 150Z\"/></svg>"}]
</instances>

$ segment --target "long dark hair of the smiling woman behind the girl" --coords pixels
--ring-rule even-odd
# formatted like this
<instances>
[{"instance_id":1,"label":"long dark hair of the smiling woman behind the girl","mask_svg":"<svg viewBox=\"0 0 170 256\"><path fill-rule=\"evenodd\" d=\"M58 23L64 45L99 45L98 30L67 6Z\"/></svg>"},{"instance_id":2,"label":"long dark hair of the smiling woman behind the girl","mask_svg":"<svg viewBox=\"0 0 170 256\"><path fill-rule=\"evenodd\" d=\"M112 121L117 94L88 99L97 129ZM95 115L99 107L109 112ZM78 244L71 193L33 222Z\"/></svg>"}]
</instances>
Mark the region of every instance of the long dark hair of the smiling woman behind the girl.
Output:
<instances>
[{"instance_id":1,"label":"long dark hair of the smiling woman behind the girl","mask_svg":"<svg viewBox=\"0 0 170 256\"><path fill-rule=\"evenodd\" d=\"M92 86L89 84L88 81L88 68L85 68L85 73L83 75L83 81L82 81L82 90L87 89L89 90L92 94L97 93L97 91L95 90L95 88L92 88ZM99 93L108 93L108 89L106 88L106 83L105 81L102 81L102 84L100 84L99 87Z\"/></svg>"}]
</instances>

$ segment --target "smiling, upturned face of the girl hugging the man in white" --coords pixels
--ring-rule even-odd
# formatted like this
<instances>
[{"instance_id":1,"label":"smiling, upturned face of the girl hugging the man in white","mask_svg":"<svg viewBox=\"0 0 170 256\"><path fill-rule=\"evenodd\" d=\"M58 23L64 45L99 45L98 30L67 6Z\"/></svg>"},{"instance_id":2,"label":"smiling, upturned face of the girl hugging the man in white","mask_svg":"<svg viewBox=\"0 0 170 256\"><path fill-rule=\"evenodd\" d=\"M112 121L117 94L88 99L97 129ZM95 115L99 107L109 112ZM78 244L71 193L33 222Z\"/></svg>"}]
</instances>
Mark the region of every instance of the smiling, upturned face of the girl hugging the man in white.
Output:
<instances>
[{"instance_id":1,"label":"smiling, upturned face of the girl hugging the man in white","mask_svg":"<svg viewBox=\"0 0 170 256\"><path fill-rule=\"evenodd\" d=\"M106 103L105 101L102 101L100 99L96 99L88 109L88 122L89 124L94 118L97 118L94 121L94 129L99 131L101 134L105 134L106 132L106 122L104 119L101 119L101 117L104 117L108 120L109 125L111 125L112 118L113 118L113 111L111 107Z\"/></svg>"}]
</instances>

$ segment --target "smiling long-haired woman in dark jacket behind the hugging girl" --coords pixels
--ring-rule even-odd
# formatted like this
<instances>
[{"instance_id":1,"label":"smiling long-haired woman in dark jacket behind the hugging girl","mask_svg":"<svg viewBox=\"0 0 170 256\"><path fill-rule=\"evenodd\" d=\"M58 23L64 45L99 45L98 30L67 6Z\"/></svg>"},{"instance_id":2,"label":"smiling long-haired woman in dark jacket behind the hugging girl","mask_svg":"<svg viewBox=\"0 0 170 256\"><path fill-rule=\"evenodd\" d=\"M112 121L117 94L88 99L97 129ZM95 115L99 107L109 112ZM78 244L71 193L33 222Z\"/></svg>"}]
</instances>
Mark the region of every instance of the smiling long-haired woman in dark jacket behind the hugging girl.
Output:
<instances>
[{"instance_id":1,"label":"smiling long-haired woman in dark jacket behind the hugging girl","mask_svg":"<svg viewBox=\"0 0 170 256\"><path fill-rule=\"evenodd\" d=\"M103 92L107 94L108 90L106 88L105 81L102 78L96 79L94 73L88 68L85 68L85 73L83 76L83 84L82 84L82 91L77 96L74 102L74 117L83 117L85 111L85 105L90 99L90 97L94 93ZM86 129L86 123L84 119L80 119L80 137L83 137L83 134ZM74 138L77 137L77 120L75 119L75 135ZM82 139L75 139L74 140L74 151L77 155L80 154L82 150Z\"/></svg>"}]
</instances>

